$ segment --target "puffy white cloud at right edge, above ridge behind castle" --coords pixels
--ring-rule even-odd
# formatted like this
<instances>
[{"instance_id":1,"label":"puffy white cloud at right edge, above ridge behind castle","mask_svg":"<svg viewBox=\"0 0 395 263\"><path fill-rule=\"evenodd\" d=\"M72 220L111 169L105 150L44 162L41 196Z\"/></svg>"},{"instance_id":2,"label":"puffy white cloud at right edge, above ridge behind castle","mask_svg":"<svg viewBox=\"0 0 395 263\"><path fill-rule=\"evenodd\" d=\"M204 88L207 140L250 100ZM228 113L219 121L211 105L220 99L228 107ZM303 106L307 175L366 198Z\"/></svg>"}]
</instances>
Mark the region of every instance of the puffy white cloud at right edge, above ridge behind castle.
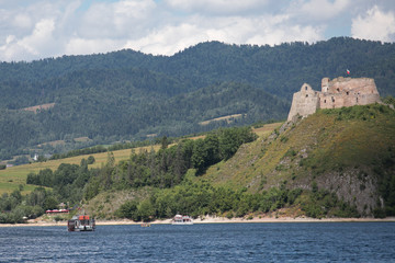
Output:
<instances>
[{"instance_id":1,"label":"puffy white cloud at right edge, above ridge behind castle","mask_svg":"<svg viewBox=\"0 0 395 263\"><path fill-rule=\"evenodd\" d=\"M352 20L351 34L356 38L395 41L395 15L393 12L383 12L374 5L365 15L358 15Z\"/></svg>"}]
</instances>

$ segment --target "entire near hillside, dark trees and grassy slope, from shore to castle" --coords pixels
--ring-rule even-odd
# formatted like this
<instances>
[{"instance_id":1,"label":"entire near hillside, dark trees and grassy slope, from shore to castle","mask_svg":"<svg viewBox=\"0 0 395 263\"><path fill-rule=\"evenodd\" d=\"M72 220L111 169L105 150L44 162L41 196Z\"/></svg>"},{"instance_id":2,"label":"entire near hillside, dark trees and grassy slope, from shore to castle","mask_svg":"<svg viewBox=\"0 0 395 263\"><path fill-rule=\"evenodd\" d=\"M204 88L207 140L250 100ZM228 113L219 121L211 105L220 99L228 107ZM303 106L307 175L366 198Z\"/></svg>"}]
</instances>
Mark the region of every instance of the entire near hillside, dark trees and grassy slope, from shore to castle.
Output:
<instances>
[{"instance_id":1,"label":"entire near hillside, dark trees and grassy slope, from shore to castle","mask_svg":"<svg viewBox=\"0 0 395 263\"><path fill-rule=\"evenodd\" d=\"M320 110L296 123L255 130L217 129L173 146L163 139L157 151L132 151L120 162L108 152L95 168L82 159L34 171L27 174L29 190L45 188L3 195L0 207L7 213L0 213L0 221L34 218L59 202L82 206L97 218L136 221L177 213L395 215L395 111L390 106Z\"/></svg>"}]
</instances>

